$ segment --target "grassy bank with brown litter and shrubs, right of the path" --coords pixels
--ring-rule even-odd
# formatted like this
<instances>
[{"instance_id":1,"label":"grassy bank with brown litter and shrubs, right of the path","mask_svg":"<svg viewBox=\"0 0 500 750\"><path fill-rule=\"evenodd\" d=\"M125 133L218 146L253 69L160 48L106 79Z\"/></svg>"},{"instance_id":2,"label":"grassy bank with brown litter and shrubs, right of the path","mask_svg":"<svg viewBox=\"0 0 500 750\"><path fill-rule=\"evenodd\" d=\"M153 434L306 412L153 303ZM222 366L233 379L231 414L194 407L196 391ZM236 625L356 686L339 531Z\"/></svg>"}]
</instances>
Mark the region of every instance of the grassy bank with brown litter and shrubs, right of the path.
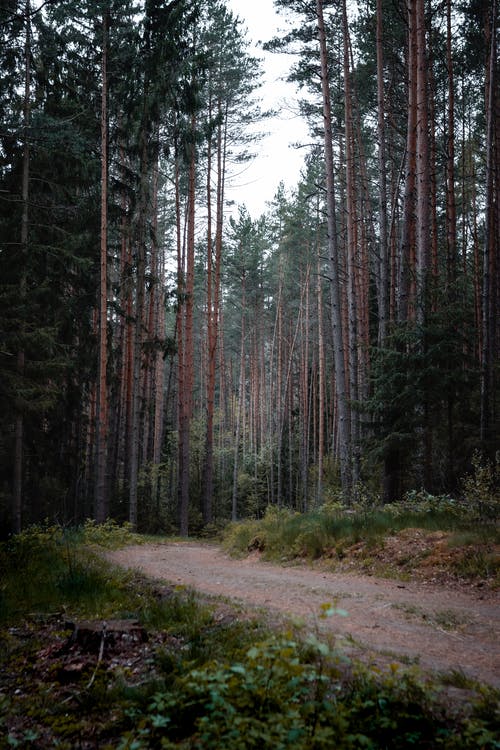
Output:
<instances>
[{"instance_id":1,"label":"grassy bank with brown litter and shrubs, right of the path","mask_svg":"<svg viewBox=\"0 0 500 750\"><path fill-rule=\"evenodd\" d=\"M229 524L223 546L235 556L258 551L338 571L497 588L500 493L491 466L478 463L463 484L459 500L413 491L382 505L360 486L349 505L334 500L308 513L270 506L261 519Z\"/></svg>"}]
</instances>

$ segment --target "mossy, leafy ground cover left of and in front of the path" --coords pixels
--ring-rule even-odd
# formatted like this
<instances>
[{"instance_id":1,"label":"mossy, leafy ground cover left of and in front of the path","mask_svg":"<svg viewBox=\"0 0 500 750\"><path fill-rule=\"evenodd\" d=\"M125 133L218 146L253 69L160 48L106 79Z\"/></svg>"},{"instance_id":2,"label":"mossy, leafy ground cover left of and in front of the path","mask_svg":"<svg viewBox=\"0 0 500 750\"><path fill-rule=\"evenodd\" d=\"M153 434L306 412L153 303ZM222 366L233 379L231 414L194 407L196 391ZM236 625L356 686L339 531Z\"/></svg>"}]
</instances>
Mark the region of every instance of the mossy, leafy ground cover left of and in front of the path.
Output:
<instances>
[{"instance_id":1,"label":"mossy, leafy ground cover left of and in front of the path","mask_svg":"<svg viewBox=\"0 0 500 750\"><path fill-rule=\"evenodd\" d=\"M354 664L318 633L276 632L99 554L131 541L113 524L37 527L0 547L0 747L500 747L497 691L469 682L450 703L416 671ZM72 637L70 623L103 620L105 644Z\"/></svg>"}]
</instances>

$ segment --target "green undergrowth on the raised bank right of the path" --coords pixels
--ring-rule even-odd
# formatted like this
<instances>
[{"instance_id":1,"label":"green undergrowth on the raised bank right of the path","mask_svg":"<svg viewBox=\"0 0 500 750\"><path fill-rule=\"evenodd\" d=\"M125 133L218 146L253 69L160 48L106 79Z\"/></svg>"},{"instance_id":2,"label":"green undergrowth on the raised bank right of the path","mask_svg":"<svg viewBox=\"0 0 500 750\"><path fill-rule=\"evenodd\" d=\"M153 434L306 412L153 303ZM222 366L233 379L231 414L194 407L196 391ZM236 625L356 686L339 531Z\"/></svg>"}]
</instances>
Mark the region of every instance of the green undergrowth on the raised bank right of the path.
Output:
<instances>
[{"instance_id":1,"label":"green undergrowth on the raised bank right of the path","mask_svg":"<svg viewBox=\"0 0 500 750\"><path fill-rule=\"evenodd\" d=\"M409 493L404 502L394 505L346 507L329 503L308 513L269 506L261 519L229 524L222 544L234 556L258 550L269 560L325 557L335 563L355 551L355 559L351 556L352 564L366 568L373 560L373 553L383 551L389 537L407 530L420 530L424 536L444 533L446 549L458 552L446 563L450 575L462 579L489 579L492 583L499 578L496 545L500 538L496 522L491 519L479 522L476 511L471 514L463 503L424 492ZM419 550L412 549L410 544L408 551L409 562L414 557L418 565ZM428 551L420 554L428 554ZM443 560L445 558L446 555ZM401 569L391 566L390 560L380 563L379 568L374 572L396 576L401 573Z\"/></svg>"}]
</instances>

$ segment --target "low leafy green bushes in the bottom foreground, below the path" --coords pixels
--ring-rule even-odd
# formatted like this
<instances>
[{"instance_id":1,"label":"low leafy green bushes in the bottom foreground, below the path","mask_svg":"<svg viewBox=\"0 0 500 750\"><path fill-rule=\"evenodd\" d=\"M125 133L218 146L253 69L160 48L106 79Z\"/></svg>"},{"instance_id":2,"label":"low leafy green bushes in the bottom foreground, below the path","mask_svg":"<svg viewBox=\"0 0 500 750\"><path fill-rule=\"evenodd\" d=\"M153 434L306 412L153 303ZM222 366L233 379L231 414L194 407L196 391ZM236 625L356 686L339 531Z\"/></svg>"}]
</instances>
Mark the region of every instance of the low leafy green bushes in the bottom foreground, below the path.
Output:
<instances>
[{"instance_id":1,"label":"low leafy green bushes in the bottom foreground, below the path","mask_svg":"<svg viewBox=\"0 0 500 750\"><path fill-rule=\"evenodd\" d=\"M429 685L411 672L396 666L384 675L363 670L343 682L326 644L313 637L307 661L303 648L289 638L272 638L233 663L211 663L179 676L137 715L119 747L498 747L493 697L485 698L490 714L477 706L457 727Z\"/></svg>"}]
</instances>

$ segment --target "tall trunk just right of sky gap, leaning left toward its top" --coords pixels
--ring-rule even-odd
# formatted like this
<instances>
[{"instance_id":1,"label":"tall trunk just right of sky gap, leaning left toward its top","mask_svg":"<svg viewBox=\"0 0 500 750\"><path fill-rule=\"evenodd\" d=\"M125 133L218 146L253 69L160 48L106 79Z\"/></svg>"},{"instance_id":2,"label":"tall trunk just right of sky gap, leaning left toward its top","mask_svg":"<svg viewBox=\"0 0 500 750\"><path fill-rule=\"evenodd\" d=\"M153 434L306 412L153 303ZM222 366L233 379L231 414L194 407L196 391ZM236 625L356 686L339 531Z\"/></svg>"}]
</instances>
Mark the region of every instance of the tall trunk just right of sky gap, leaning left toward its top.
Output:
<instances>
[{"instance_id":1,"label":"tall trunk just right of sky gap, leaning left toward its top","mask_svg":"<svg viewBox=\"0 0 500 750\"><path fill-rule=\"evenodd\" d=\"M323 135L325 148L327 193L328 257L330 268L330 295L335 367L335 388L338 411L340 476L342 488L345 491L348 491L351 487L352 482L350 410L346 393L346 365L344 360L344 337L342 332L342 310L339 279L339 253L337 244L332 115L328 76L328 52L326 44L325 23L323 17L323 0L316 0L316 13L318 17L318 40L320 47L321 88L323 98Z\"/></svg>"}]
</instances>

